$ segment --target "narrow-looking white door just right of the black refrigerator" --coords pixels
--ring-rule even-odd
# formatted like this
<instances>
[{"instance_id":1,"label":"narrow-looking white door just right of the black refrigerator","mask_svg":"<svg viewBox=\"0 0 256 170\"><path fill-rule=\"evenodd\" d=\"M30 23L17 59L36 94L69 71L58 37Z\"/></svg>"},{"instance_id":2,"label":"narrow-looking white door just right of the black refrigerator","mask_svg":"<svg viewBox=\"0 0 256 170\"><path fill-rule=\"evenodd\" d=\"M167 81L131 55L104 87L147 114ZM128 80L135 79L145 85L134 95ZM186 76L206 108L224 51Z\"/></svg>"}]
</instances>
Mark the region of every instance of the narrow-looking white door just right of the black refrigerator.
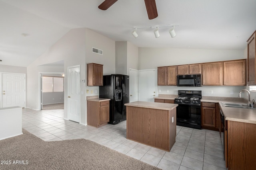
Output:
<instances>
[{"instance_id":1,"label":"narrow-looking white door just right of the black refrigerator","mask_svg":"<svg viewBox=\"0 0 256 170\"><path fill-rule=\"evenodd\" d=\"M136 102L138 101L138 70L130 68L129 80L129 102Z\"/></svg>"}]
</instances>

